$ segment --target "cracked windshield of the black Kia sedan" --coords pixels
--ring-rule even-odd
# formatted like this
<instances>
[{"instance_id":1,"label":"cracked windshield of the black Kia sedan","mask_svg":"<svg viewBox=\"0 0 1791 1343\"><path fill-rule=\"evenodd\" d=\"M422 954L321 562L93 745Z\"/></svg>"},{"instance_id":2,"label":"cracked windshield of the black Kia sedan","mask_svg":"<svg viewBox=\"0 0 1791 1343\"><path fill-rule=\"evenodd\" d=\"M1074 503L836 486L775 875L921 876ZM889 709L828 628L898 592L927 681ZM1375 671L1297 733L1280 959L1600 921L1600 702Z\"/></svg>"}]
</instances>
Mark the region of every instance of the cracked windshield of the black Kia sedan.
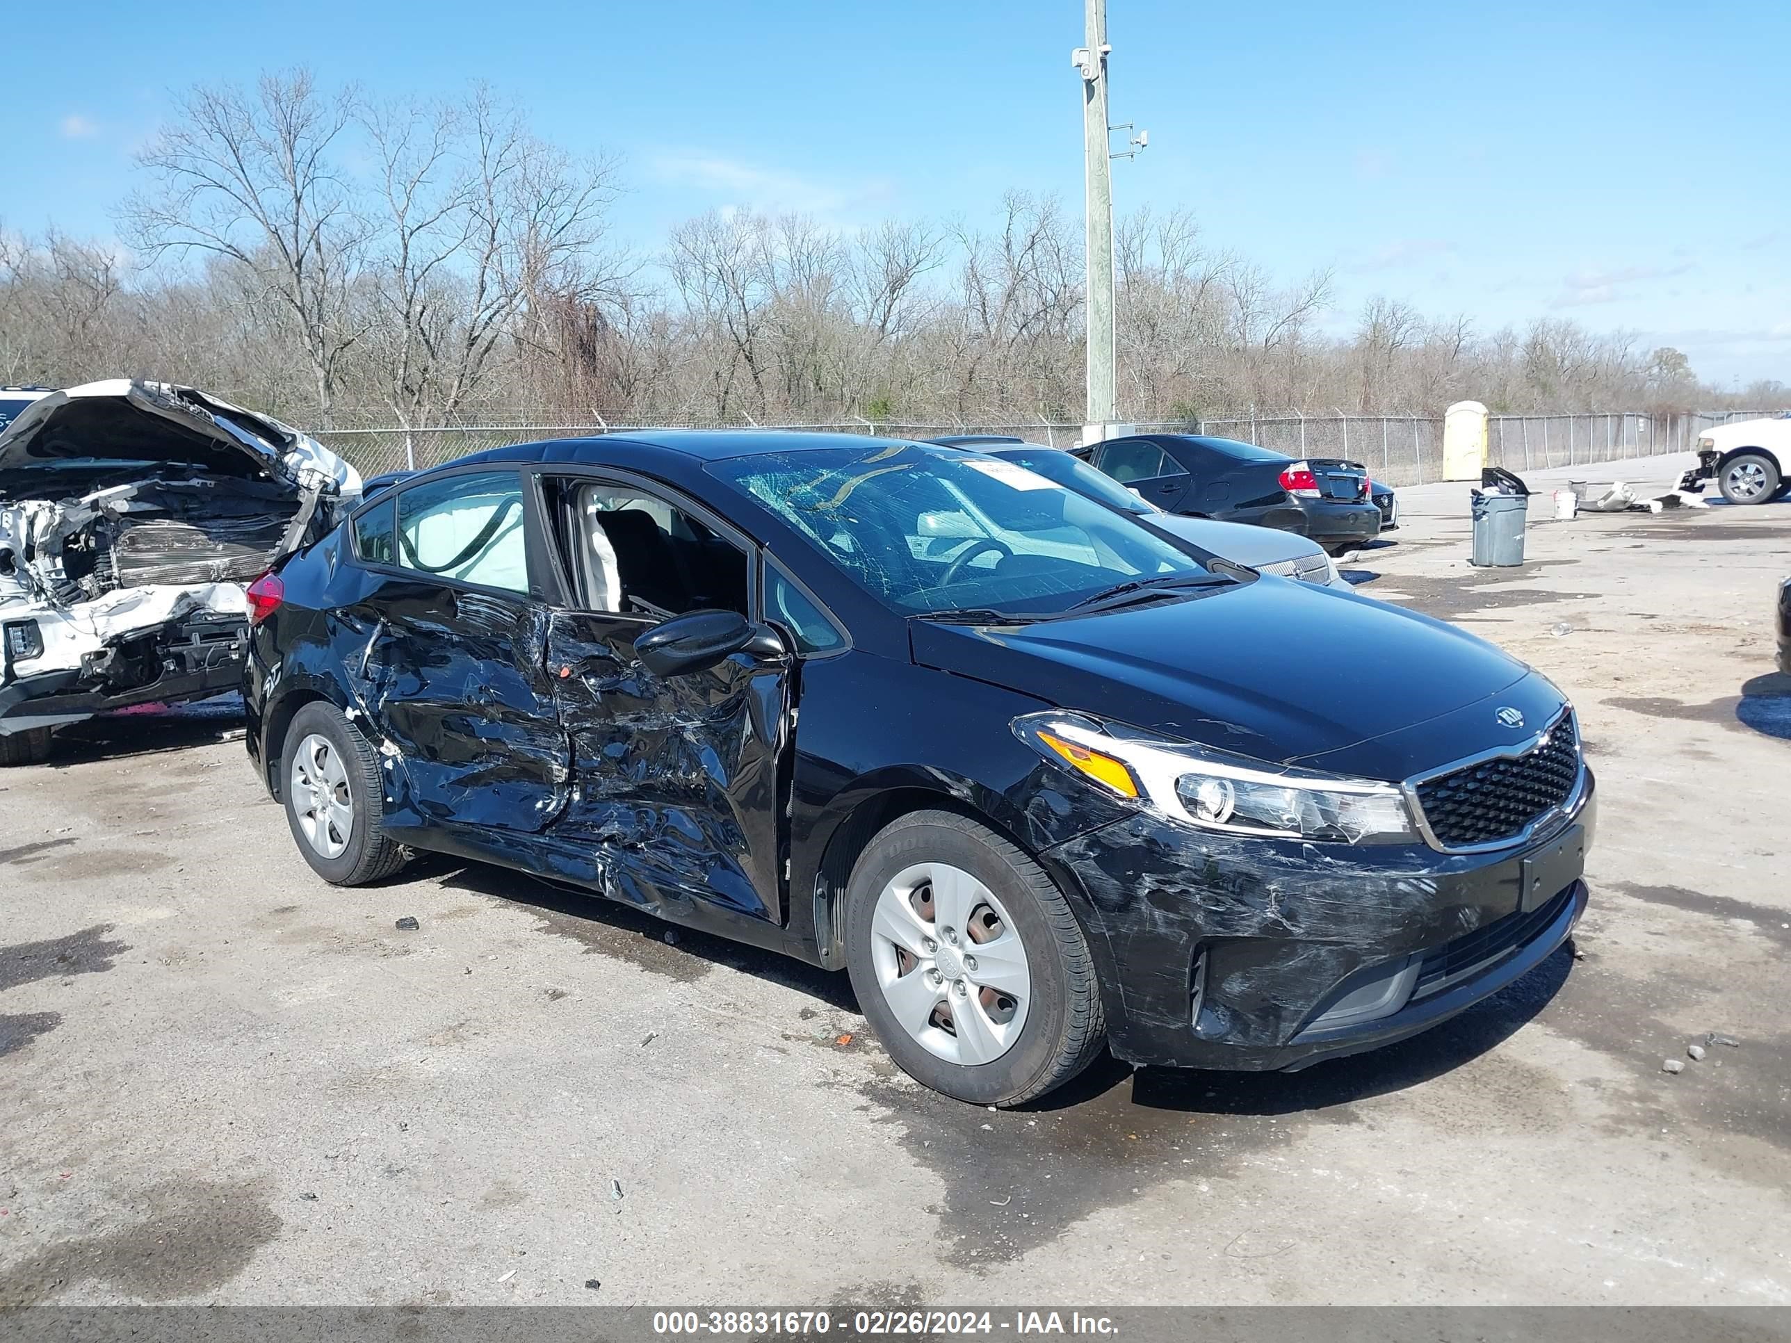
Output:
<instances>
[{"instance_id":1,"label":"cracked windshield of the black Kia sedan","mask_svg":"<svg viewBox=\"0 0 1791 1343\"><path fill-rule=\"evenodd\" d=\"M767 453L709 469L870 593L915 614L1037 618L1141 580L1218 582L1130 516L992 457L894 444Z\"/></svg>"}]
</instances>

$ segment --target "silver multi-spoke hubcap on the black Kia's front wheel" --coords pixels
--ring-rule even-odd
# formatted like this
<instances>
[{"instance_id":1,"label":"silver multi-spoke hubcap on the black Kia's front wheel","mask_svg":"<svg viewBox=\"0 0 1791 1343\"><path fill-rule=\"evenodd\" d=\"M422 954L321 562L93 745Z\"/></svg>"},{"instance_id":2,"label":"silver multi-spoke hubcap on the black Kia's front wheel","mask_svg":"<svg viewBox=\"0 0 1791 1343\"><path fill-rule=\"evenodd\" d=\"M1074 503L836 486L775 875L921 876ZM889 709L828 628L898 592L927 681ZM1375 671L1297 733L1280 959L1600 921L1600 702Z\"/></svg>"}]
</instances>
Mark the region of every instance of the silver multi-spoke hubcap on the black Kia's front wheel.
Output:
<instances>
[{"instance_id":1,"label":"silver multi-spoke hubcap on the black Kia's front wheel","mask_svg":"<svg viewBox=\"0 0 1791 1343\"><path fill-rule=\"evenodd\" d=\"M878 895L870 960L896 1021L947 1064L989 1064L1026 1024L1026 947L1001 901L964 868L897 872Z\"/></svg>"}]
</instances>

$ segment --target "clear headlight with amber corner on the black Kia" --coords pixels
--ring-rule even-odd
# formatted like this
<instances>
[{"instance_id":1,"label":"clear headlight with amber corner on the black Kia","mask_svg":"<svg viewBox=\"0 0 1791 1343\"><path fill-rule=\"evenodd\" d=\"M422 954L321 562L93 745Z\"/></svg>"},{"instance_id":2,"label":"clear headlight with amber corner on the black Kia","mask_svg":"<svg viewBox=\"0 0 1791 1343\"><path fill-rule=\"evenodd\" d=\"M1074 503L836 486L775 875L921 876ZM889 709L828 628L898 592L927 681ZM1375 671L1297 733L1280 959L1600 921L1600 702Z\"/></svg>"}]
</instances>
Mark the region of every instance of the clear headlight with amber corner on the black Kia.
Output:
<instances>
[{"instance_id":1,"label":"clear headlight with amber corner on the black Kia","mask_svg":"<svg viewBox=\"0 0 1791 1343\"><path fill-rule=\"evenodd\" d=\"M1338 779L1146 736L1085 714L1014 720L1021 741L1114 797L1225 834L1324 843L1418 843L1393 784Z\"/></svg>"}]
</instances>

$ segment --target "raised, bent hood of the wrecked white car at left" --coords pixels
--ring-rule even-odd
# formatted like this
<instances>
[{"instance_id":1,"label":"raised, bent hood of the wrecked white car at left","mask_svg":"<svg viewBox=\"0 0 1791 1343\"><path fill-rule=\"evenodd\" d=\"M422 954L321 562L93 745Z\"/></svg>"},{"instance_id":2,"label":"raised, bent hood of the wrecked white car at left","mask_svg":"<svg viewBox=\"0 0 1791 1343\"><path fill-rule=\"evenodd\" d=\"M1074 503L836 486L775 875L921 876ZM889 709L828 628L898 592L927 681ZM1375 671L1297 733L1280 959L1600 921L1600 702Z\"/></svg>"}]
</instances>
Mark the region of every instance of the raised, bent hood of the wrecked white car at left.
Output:
<instances>
[{"instance_id":1,"label":"raised, bent hood of the wrecked white car at left","mask_svg":"<svg viewBox=\"0 0 1791 1343\"><path fill-rule=\"evenodd\" d=\"M61 496L57 476L106 466L190 466L217 476L272 478L294 489L322 475L344 496L360 475L315 439L193 387L113 378L52 392L0 433L0 498Z\"/></svg>"}]
</instances>

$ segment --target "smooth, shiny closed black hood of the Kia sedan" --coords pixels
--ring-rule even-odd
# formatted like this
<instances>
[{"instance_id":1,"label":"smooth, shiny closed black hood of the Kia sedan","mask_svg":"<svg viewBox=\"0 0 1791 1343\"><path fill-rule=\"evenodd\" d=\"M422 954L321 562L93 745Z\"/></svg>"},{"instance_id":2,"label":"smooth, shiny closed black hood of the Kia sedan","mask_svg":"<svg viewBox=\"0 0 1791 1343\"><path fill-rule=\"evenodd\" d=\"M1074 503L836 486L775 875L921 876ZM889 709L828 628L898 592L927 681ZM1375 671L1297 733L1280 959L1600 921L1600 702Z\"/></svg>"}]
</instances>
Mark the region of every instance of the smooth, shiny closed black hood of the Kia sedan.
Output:
<instances>
[{"instance_id":1,"label":"smooth, shiny closed black hood of the Kia sedan","mask_svg":"<svg viewBox=\"0 0 1791 1343\"><path fill-rule=\"evenodd\" d=\"M1084 618L910 629L915 661L942 672L1370 779L1406 779L1524 736L1499 725L1499 707L1519 709L1533 732L1562 706L1546 679L1465 630L1273 577Z\"/></svg>"}]
</instances>

